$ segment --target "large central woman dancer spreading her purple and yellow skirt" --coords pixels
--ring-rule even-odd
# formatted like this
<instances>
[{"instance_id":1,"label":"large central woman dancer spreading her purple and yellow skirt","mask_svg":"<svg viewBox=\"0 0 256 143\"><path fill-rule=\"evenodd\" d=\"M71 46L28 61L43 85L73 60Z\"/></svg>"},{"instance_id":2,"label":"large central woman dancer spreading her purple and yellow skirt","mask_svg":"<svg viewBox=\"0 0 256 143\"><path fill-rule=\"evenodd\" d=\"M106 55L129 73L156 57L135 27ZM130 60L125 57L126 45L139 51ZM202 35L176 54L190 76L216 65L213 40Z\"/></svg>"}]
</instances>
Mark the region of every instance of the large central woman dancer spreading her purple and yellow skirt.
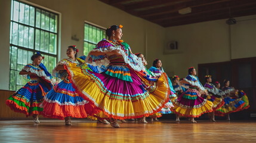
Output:
<instances>
[{"instance_id":1,"label":"large central woman dancer spreading her purple and yellow skirt","mask_svg":"<svg viewBox=\"0 0 256 143\"><path fill-rule=\"evenodd\" d=\"M90 51L86 62L92 66L106 66L103 73L90 70L79 72L70 67L68 72L79 95L87 97L109 118L110 125L119 128L116 119L135 119L157 113L164 107L169 94L166 77L158 78L155 88L141 75L141 60L132 54L127 43L121 41L122 26L110 26L106 30L109 40L98 42Z\"/></svg>"}]
</instances>

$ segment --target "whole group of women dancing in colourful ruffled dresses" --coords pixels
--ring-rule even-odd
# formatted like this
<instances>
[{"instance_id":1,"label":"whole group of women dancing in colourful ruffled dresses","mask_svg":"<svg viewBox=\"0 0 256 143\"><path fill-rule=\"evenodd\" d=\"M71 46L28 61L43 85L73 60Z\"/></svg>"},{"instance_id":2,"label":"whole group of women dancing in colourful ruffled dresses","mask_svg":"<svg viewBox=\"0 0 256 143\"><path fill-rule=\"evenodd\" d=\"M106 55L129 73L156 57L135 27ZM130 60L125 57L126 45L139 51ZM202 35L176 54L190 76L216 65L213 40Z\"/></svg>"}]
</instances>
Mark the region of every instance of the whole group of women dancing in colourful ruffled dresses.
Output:
<instances>
[{"instance_id":1,"label":"whole group of women dancing in colourful ruffled dresses","mask_svg":"<svg viewBox=\"0 0 256 143\"><path fill-rule=\"evenodd\" d=\"M213 85L211 76L205 76L202 86L196 70L190 67L188 76L171 79L162 68L161 60L153 61L150 69L143 54L132 54L128 43L121 40L122 25L110 26L106 30L109 39L98 42L87 56L77 58L76 46L68 46L65 58L58 62L50 74L37 52L20 71L30 81L8 98L6 104L14 111L33 116L38 115L65 120L71 125L73 118L89 118L120 128L118 120L145 118L156 119L162 114L195 117L209 113L225 116L249 107L245 92L229 86ZM52 77L61 79L53 83ZM171 81L172 80L172 81Z\"/></svg>"}]
</instances>

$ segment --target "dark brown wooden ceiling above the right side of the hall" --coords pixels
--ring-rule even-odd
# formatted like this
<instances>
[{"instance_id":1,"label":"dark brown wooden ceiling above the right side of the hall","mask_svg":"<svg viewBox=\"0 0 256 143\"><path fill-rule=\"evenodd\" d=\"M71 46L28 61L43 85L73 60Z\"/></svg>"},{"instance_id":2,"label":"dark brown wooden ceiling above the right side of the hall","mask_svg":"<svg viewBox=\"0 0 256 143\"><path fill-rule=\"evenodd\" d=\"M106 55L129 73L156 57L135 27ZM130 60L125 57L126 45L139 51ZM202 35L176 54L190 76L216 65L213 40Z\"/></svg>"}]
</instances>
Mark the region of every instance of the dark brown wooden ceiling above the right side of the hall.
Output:
<instances>
[{"instance_id":1,"label":"dark brown wooden ceiling above the right side of the hall","mask_svg":"<svg viewBox=\"0 0 256 143\"><path fill-rule=\"evenodd\" d=\"M163 27L256 14L256 0L100 0ZM189 14L178 10L190 7Z\"/></svg>"}]
</instances>

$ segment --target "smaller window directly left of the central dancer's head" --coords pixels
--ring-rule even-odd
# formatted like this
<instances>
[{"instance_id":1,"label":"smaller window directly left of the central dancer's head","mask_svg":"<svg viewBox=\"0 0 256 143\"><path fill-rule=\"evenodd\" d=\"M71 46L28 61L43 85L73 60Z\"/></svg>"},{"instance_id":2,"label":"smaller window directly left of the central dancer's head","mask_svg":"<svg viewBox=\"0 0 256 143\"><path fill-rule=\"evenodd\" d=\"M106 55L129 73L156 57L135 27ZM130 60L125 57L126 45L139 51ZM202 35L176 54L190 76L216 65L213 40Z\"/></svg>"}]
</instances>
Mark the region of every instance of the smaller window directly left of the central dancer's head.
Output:
<instances>
[{"instance_id":1,"label":"smaller window directly left of the central dancer's head","mask_svg":"<svg viewBox=\"0 0 256 143\"><path fill-rule=\"evenodd\" d=\"M85 23L84 30L84 55L88 55L98 42L106 38L106 30L88 23Z\"/></svg>"}]
</instances>

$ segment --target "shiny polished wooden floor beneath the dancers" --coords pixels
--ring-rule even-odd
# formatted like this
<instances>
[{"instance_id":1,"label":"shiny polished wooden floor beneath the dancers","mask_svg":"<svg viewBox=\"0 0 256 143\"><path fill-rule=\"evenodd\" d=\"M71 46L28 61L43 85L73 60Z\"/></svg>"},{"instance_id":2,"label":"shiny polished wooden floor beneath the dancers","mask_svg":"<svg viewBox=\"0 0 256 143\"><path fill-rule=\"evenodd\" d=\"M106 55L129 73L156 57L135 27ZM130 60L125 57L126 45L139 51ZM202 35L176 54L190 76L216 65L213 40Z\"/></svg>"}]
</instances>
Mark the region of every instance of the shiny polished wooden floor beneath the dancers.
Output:
<instances>
[{"instance_id":1,"label":"shiny polished wooden floor beneath the dancers","mask_svg":"<svg viewBox=\"0 0 256 143\"><path fill-rule=\"evenodd\" d=\"M256 142L256 120L158 121L120 123L121 128L90 120L0 120L0 142Z\"/></svg>"}]
</instances>

